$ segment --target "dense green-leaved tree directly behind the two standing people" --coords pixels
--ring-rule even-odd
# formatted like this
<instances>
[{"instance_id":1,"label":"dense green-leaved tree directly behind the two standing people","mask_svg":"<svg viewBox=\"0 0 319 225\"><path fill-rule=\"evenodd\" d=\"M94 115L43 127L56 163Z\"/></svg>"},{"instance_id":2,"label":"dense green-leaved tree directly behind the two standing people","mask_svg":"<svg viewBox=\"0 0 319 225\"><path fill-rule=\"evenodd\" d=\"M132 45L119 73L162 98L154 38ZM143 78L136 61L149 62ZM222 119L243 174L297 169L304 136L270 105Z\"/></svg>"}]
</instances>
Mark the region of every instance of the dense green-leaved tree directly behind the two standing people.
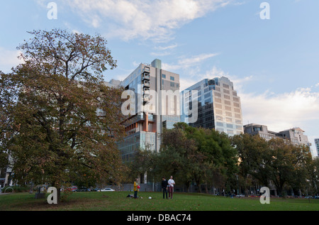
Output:
<instances>
[{"instance_id":1,"label":"dense green-leaved tree directly behind the two standing people","mask_svg":"<svg viewBox=\"0 0 319 225\"><path fill-rule=\"evenodd\" d=\"M162 168L172 171L186 187L195 181L201 185L231 186L237 172L237 151L225 133L205 128L194 128L184 123L164 131L159 153Z\"/></svg>"}]
</instances>

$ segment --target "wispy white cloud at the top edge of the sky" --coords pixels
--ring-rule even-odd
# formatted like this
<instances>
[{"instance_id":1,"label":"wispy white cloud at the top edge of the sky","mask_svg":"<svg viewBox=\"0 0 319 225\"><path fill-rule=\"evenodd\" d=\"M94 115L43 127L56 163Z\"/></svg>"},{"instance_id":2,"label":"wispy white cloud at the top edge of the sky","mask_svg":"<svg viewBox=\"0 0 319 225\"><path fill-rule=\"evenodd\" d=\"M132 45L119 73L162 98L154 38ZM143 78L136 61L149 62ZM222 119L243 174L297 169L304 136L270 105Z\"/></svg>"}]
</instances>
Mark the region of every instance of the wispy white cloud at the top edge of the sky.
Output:
<instances>
[{"instance_id":1,"label":"wispy white cloud at the top edge of the sky","mask_svg":"<svg viewBox=\"0 0 319 225\"><path fill-rule=\"evenodd\" d=\"M233 0L231 0L233 1ZM230 0L67 0L94 28L107 26L108 37L172 40L174 29L230 4ZM106 25L107 24L107 25Z\"/></svg>"}]
</instances>

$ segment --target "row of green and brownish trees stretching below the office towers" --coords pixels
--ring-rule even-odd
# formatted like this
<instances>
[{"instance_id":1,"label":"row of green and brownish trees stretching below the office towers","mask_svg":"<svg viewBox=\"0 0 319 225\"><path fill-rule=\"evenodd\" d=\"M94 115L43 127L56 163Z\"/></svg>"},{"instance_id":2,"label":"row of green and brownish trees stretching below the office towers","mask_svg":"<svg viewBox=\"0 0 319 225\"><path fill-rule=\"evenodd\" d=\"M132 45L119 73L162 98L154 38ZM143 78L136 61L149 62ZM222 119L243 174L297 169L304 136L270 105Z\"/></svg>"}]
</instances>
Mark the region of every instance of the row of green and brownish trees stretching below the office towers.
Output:
<instances>
[{"instance_id":1,"label":"row of green and brownish trees stretching below the office towers","mask_svg":"<svg viewBox=\"0 0 319 225\"><path fill-rule=\"evenodd\" d=\"M195 183L198 192L201 186L206 192L240 187L247 194L250 187L270 186L277 194L289 190L300 195L318 193L319 185L319 160L311 158L306 146L248 134L229 137L184 123L164 131L159 153L138 150L130 168L135 175L147 172L149 179L157 181L174 175L186 190Z\"/></svg>"}]
</instances>

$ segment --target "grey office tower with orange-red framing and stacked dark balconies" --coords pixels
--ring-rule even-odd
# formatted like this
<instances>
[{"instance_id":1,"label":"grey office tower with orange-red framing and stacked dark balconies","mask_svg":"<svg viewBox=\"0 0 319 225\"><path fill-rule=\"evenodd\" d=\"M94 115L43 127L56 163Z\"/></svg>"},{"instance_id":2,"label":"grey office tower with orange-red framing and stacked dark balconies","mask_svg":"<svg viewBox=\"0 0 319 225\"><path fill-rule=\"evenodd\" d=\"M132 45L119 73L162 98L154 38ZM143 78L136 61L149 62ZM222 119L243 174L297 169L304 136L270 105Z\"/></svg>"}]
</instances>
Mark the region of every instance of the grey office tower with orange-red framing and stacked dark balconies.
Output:
<instances>
[{"instance_id":1,"label":"grey office tower with orange-red framing and stacked dark balconies","mask_svg":"<svg viewBox=\"0 0 319 225\"><path fill-rule=\"evenodd\" d=\"M122 82L111 80L106 84L124 87L128 94L134 95L124 102L130 110L123 121L127 136L118 143L124 161L132 160L138 148L158 151L163 128L173 128L180 121L179 75L162 70L161 65L161 60L141 63Z\"/></svg>"}]
</instances>

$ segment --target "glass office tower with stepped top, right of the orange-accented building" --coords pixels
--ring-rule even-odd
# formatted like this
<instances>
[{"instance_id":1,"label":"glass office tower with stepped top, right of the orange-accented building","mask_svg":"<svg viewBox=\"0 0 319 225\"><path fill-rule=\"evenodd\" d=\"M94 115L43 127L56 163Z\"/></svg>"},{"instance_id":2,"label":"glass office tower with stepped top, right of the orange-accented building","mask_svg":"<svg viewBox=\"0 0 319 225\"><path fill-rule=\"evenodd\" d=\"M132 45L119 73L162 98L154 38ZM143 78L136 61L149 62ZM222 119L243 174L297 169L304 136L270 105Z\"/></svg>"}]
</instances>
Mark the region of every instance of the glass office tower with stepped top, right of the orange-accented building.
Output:
<instances>
[{"instance_id":1,"label":"glass office tower with stepped top, right of the orange-accented building","mask_svg":"<svg viewBox=\"0 0 319 225\"><path fill-rule=\"evenodd\" d=\"M197 99L197 120L189 122L186 109ZM203 79L181 92L181 121L190 126L214 128L233 136L243 133L240 97L227 77Z\"/></svg>"}]
</instances>

